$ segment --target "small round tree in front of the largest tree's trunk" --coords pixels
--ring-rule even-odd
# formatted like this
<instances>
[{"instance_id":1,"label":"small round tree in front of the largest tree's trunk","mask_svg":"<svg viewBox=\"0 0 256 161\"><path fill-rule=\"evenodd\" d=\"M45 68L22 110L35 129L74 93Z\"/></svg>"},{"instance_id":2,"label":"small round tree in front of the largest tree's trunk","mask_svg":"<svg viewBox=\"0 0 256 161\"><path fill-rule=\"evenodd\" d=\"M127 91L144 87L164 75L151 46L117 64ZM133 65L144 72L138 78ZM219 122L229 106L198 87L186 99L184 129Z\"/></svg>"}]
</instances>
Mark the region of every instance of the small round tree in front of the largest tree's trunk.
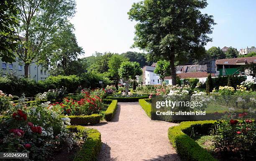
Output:
<instances>
[{"instance_id":1,"label":"small round tree in front of the largest tree's trunk","mask_svg":"<svg viewBox=\"0 0 256 161\"><path fill-rule=\"evenodd\" d=\"M170 72L170 62L166 60L159 60L157 61L156 68L154 73L159 74L159 77L162 79L161 84L164 82L164 77L168 77L171 75Z\"/></svg>"}]
</instances>

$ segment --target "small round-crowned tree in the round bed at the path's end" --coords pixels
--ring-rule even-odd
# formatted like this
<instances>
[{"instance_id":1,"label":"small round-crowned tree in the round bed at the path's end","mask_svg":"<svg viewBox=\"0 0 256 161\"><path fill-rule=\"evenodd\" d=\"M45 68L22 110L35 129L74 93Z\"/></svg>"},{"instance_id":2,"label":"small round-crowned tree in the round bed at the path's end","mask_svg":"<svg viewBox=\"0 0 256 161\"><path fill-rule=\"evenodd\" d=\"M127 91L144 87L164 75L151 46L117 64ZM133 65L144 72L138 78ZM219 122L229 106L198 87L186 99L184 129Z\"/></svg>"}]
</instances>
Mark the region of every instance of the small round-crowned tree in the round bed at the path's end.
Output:
<instances>
[{"instance_id":1,"label":"small round-crowned tree in the round bed at the path's end","mask_svg":"<svg viewBox=\"0 0 256 161\"><path fill-rule=\"evenodd\" d=\"M125 81L125 93L128 95L129 79L134 75L134 64L131 61L123 61L118 69L118 74Z\"/></svg>"}]
</instances>

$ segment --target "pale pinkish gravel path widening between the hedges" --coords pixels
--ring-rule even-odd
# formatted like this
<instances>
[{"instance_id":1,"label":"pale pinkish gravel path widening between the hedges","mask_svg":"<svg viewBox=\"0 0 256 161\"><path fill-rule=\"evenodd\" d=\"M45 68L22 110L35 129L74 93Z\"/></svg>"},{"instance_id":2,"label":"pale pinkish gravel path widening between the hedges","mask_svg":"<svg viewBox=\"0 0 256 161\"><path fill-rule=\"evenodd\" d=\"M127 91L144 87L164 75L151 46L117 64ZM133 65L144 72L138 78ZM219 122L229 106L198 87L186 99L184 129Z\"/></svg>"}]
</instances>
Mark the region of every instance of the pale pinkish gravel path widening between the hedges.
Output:
<instances>
[{"instance_id":1,"label":"pale pinkish gravel path widening between the hedges","mask_svg":"<svg viewBox=\"0 0 256 161\"><path fill-rule=\"evenodd\" d=\"M174 125L151 120L138 102L118 102L111 122L90 126L101 133L98 161L180 161L167 136Z\"/></svg>"}]
</instances>

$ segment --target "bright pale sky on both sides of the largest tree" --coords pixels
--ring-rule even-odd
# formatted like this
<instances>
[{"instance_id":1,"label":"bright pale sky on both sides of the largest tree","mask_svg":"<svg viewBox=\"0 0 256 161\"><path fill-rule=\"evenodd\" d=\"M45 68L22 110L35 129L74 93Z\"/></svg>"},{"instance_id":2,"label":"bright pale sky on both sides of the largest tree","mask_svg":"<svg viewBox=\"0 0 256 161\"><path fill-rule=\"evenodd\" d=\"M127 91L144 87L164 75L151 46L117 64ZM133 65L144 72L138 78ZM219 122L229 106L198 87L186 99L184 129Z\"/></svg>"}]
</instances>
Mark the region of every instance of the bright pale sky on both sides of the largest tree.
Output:
<instances>
[{"instance_id":1,"label":"bright pale sky on both sides of the largest tree","mask_svg":"<svg viewBox=\"0 0 256 161\"><path fill-rule=\"evenodd\" d=\"M127 12L140 0L76 0L77 13L71 19L75 35L84 55L95 51L124 53L143 52L131 49L136 22L128 19ZM256 46L256 0L208 0L202 13L213 15L213 26L206 49L212 46L233 46L242 49Z\"/></svg>"}]
</instances>

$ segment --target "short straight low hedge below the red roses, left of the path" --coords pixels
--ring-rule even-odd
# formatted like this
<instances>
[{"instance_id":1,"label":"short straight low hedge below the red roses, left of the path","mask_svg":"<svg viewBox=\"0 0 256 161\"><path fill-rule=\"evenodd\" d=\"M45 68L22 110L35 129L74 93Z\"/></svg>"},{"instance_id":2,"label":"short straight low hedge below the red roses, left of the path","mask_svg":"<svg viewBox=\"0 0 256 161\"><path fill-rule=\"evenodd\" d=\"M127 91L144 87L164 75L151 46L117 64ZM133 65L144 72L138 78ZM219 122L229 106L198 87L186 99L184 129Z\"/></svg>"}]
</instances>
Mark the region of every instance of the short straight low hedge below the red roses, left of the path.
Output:
<instances>
[{"instance_id":1,"label":"short straight low hedge below the red roses, left of the path","mask_svg":"<svg viewBox=\"0 0 256 161\"><path fill-rule=\"evenodd\" d=\"M71 125L94 125L100 123L100 119L102 115L99 114L92 114L92 115L85 115L85 116L68 116L70 118Z\"/></svg>"}]
</instances>

